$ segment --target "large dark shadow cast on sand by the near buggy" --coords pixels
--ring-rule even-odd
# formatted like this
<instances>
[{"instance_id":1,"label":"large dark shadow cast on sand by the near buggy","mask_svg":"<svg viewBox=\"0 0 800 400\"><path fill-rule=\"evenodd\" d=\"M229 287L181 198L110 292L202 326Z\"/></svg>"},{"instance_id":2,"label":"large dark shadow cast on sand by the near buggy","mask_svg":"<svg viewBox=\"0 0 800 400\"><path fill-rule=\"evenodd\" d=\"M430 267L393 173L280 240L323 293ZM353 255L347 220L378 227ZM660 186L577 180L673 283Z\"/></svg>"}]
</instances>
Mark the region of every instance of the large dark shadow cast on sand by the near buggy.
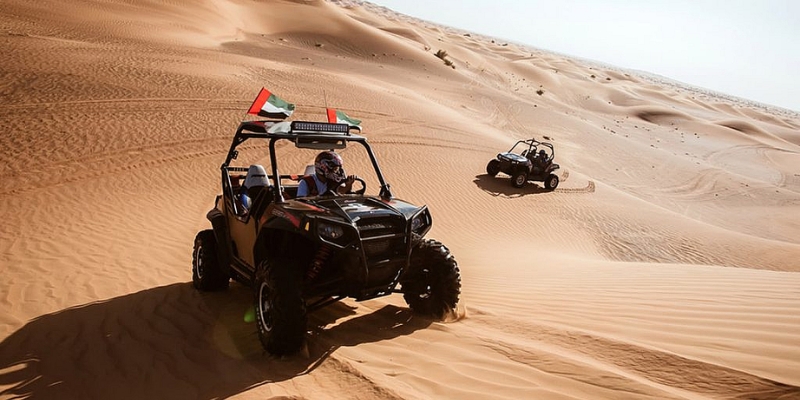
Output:
<instances>
[{"instance_id":1,"label":"large dark shadow cast on sand by the near buggy","mask_svg":"<svg viewBox=\"0 0 800 400\"><path fill-rule=\"evenodd\" d=\"M309 316L308 355L277 359L245 322L249 288L157 287L40 316L0 343L0 397L225 398L312 371L336 349L424 329L391 305L362 316L336 303ZM351 319L326 326L344 316Z\"/></svg>"}]
</instances>

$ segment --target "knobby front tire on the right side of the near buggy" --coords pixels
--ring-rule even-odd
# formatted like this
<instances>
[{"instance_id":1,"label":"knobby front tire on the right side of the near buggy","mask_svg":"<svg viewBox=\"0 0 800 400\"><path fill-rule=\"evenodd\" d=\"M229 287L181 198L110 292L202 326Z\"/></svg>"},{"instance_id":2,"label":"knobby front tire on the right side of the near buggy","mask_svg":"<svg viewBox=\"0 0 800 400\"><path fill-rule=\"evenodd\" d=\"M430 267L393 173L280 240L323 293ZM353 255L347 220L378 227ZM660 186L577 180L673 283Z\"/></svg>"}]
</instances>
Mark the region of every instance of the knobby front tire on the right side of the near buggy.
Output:
<instances>
[{"instance_id":1,"label":"knobby front tire on the right side of the near buggy","mask_svg":"<svg viewBox=\"0 0 800 400\"><path fill-rule=\"evenodd\" d=\"M435 240L423 240L411 252L401 289L409 308L418 314L442 319L455 309L461 294L461 272L450 250Z\"/></svg>"}]
</instances>

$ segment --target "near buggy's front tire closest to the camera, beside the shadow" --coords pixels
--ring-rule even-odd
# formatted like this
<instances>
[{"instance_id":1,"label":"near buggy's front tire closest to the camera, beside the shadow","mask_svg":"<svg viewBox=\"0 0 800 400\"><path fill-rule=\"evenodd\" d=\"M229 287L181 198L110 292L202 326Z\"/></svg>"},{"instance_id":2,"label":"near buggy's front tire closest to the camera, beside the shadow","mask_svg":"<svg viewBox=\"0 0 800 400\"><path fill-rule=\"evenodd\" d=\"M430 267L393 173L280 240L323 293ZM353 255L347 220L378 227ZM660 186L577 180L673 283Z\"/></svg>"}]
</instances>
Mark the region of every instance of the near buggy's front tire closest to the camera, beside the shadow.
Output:
<instances>
[{"instance_id":1,"label":"near buggy's front tire closest to the camera, beside the shadow","mask_svg":"<svg viewBox=\"0 0 800 400\"><path fill-rule=\"evenodd\" d=\"M306 303L302 275L290 259L262 261L255 276L255 310L258 338L270 354L294 354L303 346L306 333Z\"/></svg>"}]
</instances>

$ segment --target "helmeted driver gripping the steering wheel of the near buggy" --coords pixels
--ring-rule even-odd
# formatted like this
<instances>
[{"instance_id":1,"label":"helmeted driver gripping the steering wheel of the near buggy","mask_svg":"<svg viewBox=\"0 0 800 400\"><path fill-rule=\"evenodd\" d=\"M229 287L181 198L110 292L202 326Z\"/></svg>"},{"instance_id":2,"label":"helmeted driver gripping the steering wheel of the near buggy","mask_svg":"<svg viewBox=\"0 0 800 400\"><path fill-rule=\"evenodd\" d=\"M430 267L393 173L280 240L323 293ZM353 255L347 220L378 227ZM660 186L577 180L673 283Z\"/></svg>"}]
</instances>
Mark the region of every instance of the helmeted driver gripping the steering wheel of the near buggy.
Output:
<instances>
[{"instance_id":1,"label":"helmeted driver gripping the steering wheel of the near buggy","mask_svg":"<svg viewBox=\"0 0 800 400\"><path fill-rule=\"evenodd\" d=\"M297 187L297 197L318 196L329 189L345 194L353 189L355 175L345 176L344 161L334 151L323 151L314 159L314 173L306 175ZM329 186L330 185L330 186Z\"/></svg>"}]
</instances>

